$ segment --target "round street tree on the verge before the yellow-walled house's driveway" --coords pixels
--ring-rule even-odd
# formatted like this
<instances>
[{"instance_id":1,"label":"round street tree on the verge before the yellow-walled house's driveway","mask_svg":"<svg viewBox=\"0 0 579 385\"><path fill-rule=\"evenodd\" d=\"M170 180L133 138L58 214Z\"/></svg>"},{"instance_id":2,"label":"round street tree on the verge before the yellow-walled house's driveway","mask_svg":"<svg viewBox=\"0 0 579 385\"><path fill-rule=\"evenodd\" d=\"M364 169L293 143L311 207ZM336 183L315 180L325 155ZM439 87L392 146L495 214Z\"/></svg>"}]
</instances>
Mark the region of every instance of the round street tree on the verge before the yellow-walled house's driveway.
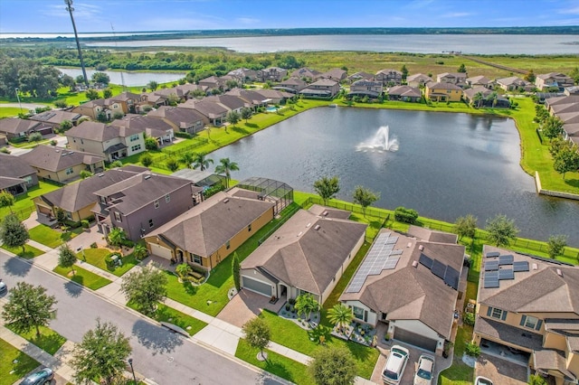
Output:
<instances>
[{"instance_id":1,"label":"round street tree on the verge before the yellow-walled house's driveway","mask_svg":"<svg viewBox=\"0 0 579 385\"><path fill-rule=\"evenodd\" d=\"M155 312L157 302L166 298L166 284L167 278L163 271L147 266L123 277L120 289L128 297L128 302L150 315Z\"/></svg>"}]
</instances>

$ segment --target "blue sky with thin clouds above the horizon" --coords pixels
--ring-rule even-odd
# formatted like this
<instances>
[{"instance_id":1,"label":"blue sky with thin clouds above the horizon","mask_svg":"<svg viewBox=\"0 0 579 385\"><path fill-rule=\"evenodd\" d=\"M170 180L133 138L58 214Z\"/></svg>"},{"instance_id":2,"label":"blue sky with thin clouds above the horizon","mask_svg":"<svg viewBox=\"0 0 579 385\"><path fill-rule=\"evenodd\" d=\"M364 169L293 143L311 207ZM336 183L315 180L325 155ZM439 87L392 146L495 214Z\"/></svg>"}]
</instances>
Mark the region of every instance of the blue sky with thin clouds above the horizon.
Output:
<instances>
[{"instance_id":1,"label":"blue sky with thin clouds above the horizon","mask_svg":"<svg viewBox=\"0 0 579 385\"><path fill-rule=\"evenodd\" d=\"M74 0L79 33L579 25L577 0ZM0 0L0 33L71 33L63 0Z\"/></svg>"}]
</instances>

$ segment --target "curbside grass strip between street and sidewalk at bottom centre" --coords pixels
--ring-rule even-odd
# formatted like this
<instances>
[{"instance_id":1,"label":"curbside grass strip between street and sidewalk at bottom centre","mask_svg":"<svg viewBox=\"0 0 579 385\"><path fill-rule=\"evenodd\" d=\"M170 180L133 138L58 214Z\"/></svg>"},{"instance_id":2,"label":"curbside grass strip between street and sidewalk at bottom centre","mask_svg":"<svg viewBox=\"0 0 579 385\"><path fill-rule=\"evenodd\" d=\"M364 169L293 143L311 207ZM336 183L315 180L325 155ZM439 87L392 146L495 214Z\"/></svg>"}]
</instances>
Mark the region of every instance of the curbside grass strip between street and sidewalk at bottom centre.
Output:
<instances>
[{"instance_id":1,"label":"curbside grass strip between street and sidewalk at bottom centre","mask_svg":"<svg viewBox=\"0 0 579 385\"><path fill-rule=\"evenodd\" d=\"M288 357L271 352L268 349L264 351L268 353L268 361L259 361L257 359L258 352L260 352L259 349L253 349L249 343L241 339L237 344L235 357L298 385L315 384L314 380L308 374L307 366L303 363L293 361Z\"/></svg>"}]
</instances>

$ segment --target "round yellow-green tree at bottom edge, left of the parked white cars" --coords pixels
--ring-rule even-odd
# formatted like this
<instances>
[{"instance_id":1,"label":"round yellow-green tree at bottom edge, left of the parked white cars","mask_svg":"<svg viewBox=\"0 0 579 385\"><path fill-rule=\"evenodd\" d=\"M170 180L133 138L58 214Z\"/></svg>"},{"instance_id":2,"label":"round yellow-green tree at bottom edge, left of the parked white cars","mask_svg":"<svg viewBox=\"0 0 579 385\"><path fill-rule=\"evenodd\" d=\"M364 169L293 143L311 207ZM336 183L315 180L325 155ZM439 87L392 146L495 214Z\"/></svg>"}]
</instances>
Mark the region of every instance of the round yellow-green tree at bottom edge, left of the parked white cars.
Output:
<instances>
[{"instance_id":1,"label":"round yellow-green tree at bottom edge, left of the parked white cars","mask_svg":"<svg viewBox=\"0 0 579 385\"><path fill-rule=\"evenodd\" d=\"M308 371L318 385L351 385L356 380L356 361L343 347L318 348Z\"/></svg>"}]
</instances>

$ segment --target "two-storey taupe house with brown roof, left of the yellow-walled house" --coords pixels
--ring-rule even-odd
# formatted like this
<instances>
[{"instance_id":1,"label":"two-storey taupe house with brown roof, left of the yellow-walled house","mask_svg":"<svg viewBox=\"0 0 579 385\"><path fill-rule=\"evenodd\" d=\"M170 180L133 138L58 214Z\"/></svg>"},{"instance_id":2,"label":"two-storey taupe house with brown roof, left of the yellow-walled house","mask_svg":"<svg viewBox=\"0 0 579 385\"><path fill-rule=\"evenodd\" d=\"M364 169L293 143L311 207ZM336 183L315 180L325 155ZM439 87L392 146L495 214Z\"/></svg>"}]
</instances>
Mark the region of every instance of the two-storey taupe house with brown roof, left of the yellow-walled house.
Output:
<instances>
[{"instance_id":1,"label":"two-storey taupe house with brown roof, left of the yellow-walled house","mask_svg":"<svg viewBox=\"0 0 579 385\"><path fill-rule=\"evenodd\" d=\"M202 201L201 187L183 178L141 173L93 192L92 208L99 230L125 230L137 241Z\"/></svg>"}]
</instances>

